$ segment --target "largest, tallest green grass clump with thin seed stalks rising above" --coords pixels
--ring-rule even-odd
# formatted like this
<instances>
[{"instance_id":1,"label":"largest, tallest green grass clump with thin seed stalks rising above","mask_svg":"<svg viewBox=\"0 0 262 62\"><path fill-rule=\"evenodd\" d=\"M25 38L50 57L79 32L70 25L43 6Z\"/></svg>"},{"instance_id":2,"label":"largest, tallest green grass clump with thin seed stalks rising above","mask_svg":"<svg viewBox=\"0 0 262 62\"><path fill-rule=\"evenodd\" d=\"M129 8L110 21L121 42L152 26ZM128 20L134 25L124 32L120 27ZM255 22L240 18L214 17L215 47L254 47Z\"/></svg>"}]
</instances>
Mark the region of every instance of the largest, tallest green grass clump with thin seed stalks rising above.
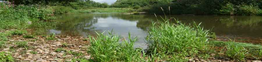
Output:
<instances>
[{"instance_id":1,"label":"largest, tallest green grass clump with thin seed stalks rising above","mask_svg":"<svg viewBox=\"0 0 262 62\"><path fill-rule=\"evenodd\" d=\"M208 30L203 30L200 24L194 23L192 27L177 20L176 24L169 23L168 19L163 20L165 22L159 22L158 26L153 23L146 37L149 52L153 52L156 48L156 53L187 53L195 56L197 52L208 48L206 42Z\"/></svg>"}]
</instances>

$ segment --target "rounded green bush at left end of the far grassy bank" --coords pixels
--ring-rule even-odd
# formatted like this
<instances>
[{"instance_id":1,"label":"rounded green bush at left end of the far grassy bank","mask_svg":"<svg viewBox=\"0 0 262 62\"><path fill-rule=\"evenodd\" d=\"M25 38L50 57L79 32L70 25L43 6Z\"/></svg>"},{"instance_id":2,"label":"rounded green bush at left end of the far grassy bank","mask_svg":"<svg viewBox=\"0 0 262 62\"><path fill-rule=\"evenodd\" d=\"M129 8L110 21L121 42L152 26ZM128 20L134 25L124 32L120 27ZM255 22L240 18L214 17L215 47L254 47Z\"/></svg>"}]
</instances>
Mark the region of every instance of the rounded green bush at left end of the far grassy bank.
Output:
<instances>
[{"instance_id":1,"label":"rounded green bush at left end of the far grassy bank","mask_svg":"<svg viewBox=\"0 0 262 62\"><path fill-rule=\"evenodd\" d=\"M54 14L66 14L72 10L71 7L57 6L54 9Z\"/></svg>"}]
</instances>

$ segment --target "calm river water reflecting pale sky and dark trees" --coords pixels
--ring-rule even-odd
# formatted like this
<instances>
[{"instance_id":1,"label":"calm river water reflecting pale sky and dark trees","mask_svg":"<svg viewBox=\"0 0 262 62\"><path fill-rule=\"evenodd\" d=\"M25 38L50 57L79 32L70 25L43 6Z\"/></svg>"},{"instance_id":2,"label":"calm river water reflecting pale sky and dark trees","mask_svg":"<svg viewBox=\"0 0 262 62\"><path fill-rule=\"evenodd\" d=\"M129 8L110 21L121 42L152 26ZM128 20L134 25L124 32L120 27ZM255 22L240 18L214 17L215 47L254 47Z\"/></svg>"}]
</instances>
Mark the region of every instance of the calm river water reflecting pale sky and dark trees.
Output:
<instances>
[{"instance_id":1,"label":"calm river water reflecting pale sky and dark trees","mask_svg":"<svg viewBox=\"0 0 262 62\"><path fill-rule=\"evenodd\" d=\"M145 48L144 37L148 33L154 15L133 14L63 14L57 15L59 23L56 28L47 29L46 33L59 35L74 34L87 37L94 31L107 31L114 29L114 33L127 37L128 32L139 38L137 47ZM218 36L233 35L245 37L262 37L262 16L180 16L172 17L186 23L202 22L205 29L212 29ZM160 18L158 18L160 19Z\"/></svg>"}]
</instances>

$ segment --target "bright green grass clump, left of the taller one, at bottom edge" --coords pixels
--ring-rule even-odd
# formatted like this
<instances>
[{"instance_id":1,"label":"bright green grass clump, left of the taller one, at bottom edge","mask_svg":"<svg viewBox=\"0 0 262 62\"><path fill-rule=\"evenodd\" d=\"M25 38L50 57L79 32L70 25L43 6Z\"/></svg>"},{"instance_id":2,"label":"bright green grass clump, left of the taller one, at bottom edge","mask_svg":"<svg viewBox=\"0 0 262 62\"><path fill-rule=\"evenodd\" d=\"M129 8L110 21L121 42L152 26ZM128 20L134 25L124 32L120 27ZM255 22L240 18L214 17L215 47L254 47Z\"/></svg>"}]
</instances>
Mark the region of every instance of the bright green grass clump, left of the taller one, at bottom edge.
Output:
<instances>
[{"instance_id":1,"label":"bright green grass clump, left of the taller one, at bottom edge","mask_svg":"<svg viewBox=\"0 0 262 62\"><path fill-rule=\"evenodd\" d=\"M109 32L108 32L109 33ZM93 60L98 62L141 62L143 57L141 49L134 49L134 42L137 38L131 39L129 33L129 41L123 40L119 43L120 37L117 35L104 35L97 33L98 37L94 38L89 36L91 46L88 47L88 54L91 55Z\"/></svg>"}]
</instances>

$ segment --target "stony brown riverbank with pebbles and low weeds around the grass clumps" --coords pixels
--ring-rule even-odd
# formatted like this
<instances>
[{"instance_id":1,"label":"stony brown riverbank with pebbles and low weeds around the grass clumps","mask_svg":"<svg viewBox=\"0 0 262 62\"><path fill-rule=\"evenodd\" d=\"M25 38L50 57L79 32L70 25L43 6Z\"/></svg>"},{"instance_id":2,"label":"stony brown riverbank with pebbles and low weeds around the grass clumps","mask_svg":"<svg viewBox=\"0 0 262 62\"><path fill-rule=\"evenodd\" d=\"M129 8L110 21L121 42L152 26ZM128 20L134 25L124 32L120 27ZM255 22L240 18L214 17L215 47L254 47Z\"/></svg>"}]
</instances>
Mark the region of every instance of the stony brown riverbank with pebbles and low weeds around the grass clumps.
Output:
<instances>
[{"instance_id":1,"label":"stony brown riverbank with pebbles and low weeds around the grass clumps","mask_svg":"<svg viewBox=\"0 0 262 62\"><path fill-rule=\"evenodd\" d=\"M92 62L94 58L86 53L88 51L88 46L90 47L90 39L71 36L71 35L31 35L31 29L27 29L26 32L20 32L19 34L12 34L15 29L1 30L1 55L6 56L10 54L11 57L5 58L5 60L13 60L15 62L24 61L38 61L38 62L75 62L84 61ZM11 33L11 34L8 34ZM17 31L17 33L19 33ZM3 36L6 36L4 39ZM32 36L32 37L30 37ZM199 52L196 57L181 57L185 58L188 62L238 62L238 60L233 60L228 58L224 49L227 46L224 41L208 41L208 45L213 47L210 52ZM247 57L244 61L246 62L261 62L257 57L261 55L261 52L257 52L257 49L262 48L261 45L254 45L248 43L237 43L241 47L249 50ZM256 53L256 58L252 57L253 53ZM165 55L159 55L165 56ZM147 56L146 56L147 57ZM3 57L4 58L4 57ZM147 57L148 58L148 57ZM158 58L158 59L157 59ZM145 58L146 59L146 58ZM161 59L160 57L155 57L156 61L165 61L166 59ZM146 59L148 60L148 59ZM243 60L242 60L243 61ZM12 61L10 61L12 62Z\"/></svg>"}]
</instances>

